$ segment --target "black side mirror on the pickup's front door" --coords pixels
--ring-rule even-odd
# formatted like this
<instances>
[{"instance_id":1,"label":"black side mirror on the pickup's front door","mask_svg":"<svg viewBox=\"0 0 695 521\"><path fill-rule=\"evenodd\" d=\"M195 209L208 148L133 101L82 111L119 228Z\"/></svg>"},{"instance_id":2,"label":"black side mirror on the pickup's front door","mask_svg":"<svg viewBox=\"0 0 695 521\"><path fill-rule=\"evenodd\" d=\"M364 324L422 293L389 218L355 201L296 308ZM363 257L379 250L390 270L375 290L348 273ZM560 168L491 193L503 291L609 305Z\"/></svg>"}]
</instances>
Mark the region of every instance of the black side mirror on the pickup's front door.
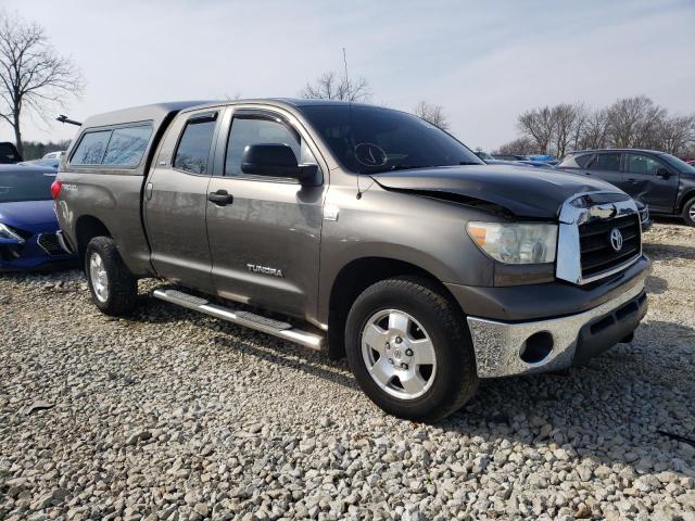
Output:
<instances>
[{"instance_id":1,"label":"black side mirror on the pickup's front door","mask_svg":"<svg viewBox=\"0 0 695 521\"><path fill-rule=\"evenodd\" d=\"M316 177L316 165L299 165L287 144L250 144L243 151L241 171L255 176L291 177L305 183Z\"/></svg>"}]
</instances>

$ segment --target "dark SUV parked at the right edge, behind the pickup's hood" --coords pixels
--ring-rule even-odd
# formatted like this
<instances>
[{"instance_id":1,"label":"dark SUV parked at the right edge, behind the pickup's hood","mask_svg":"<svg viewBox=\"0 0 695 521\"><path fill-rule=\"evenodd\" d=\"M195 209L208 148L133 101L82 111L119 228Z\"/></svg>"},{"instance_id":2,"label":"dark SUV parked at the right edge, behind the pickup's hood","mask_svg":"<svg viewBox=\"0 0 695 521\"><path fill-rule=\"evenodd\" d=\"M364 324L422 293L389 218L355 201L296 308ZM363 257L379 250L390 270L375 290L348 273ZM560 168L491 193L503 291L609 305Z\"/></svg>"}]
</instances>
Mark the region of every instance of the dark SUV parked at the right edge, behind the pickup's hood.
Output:
<instances>
[{"instance_id":1,"label":"dark SUV parked at the right edge, behind the pickup's hood","mask_svg":"<svg viewBox=\"0 0 695 521\"><path fill-rule=\"evenodd\" d=\"M556 168L597 177L649 206L654 215L680 216L695 226L695 167L655 150L572 152Z\"/></svg>"}]
</instances>

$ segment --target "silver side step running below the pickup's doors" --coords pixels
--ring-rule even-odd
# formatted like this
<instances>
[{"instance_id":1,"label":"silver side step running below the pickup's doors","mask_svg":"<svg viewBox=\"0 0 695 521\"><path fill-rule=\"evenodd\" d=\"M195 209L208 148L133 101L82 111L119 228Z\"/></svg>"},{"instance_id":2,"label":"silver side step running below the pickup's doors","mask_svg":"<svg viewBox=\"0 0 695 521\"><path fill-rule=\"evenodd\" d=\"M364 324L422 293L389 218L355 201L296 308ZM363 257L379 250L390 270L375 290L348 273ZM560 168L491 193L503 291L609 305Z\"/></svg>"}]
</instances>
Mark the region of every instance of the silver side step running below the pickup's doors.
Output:
<instances>
[{"instance_id":1,"label":"silver side step running below the pickup's doors","mask_svg":"<svg viewBox=\"0 0 695 521\"><path fill-rule=\"evenodd\" d=\"M223 320L238 323L239 326L245 326L247 328L273 334L275 336L279 336L280 339L295 342L312 350L320 351L324 345L325 338L321 334L302 331L301 329L292 327L292 325L290 323L263 317L254 313L218 306L217 304L213 304L205 298L189 295L188 293L184 293L182 291L154 290L152 294L156 298L160 298L162 301L170 302L172 304L187 307L188 309L193 309L194 312L201 312L215 318L222 318Z\"/></svg>"}]
</instances>

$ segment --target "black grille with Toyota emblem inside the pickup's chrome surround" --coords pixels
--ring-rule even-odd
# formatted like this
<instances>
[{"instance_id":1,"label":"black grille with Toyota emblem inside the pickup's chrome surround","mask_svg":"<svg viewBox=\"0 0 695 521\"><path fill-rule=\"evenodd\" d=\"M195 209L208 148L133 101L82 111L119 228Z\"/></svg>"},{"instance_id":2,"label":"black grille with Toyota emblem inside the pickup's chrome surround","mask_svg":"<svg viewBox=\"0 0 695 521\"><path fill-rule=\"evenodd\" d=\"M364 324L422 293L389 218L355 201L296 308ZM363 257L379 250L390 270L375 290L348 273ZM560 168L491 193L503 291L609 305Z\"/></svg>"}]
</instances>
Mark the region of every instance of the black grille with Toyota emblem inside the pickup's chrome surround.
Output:
<instances>
[{"instance_id":1,"label":"black grille with Toyota emblem inside the pickup's chrome surround","mask_svg":"<svg viewBox=\"0 0 695 521\"><path fill-rule=\"evenodd\" d=\"M610 232L620 230L622 247L616 251ZM642 249L639 214L610 220L593 220L579 227L582 277L593 277L620 266L640 254Z\"/></svg>"}]
</instances>

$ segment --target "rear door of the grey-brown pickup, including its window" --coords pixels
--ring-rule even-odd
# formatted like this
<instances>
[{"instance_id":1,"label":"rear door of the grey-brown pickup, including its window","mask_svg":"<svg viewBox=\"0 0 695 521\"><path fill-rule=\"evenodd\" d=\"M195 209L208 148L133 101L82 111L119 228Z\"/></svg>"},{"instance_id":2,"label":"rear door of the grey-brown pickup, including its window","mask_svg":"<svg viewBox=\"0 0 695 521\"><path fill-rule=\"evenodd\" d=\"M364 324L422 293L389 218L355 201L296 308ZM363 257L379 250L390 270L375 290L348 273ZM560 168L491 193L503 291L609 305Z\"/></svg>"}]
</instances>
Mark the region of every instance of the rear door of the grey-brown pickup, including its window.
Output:
<instances>
[{"instance_id":1,"label":"rear door of the grey-brown pickup, including its window","mask_svg":"<svg viewBox=\"0 0 695 521\"><path fill-rule=\"evenodd\" d=\"M156 272L208 292L214 285L205 212L218 116L217 110L202 110L177 117L144 194L144 220Z\"/></svg>"}]
</instances>

